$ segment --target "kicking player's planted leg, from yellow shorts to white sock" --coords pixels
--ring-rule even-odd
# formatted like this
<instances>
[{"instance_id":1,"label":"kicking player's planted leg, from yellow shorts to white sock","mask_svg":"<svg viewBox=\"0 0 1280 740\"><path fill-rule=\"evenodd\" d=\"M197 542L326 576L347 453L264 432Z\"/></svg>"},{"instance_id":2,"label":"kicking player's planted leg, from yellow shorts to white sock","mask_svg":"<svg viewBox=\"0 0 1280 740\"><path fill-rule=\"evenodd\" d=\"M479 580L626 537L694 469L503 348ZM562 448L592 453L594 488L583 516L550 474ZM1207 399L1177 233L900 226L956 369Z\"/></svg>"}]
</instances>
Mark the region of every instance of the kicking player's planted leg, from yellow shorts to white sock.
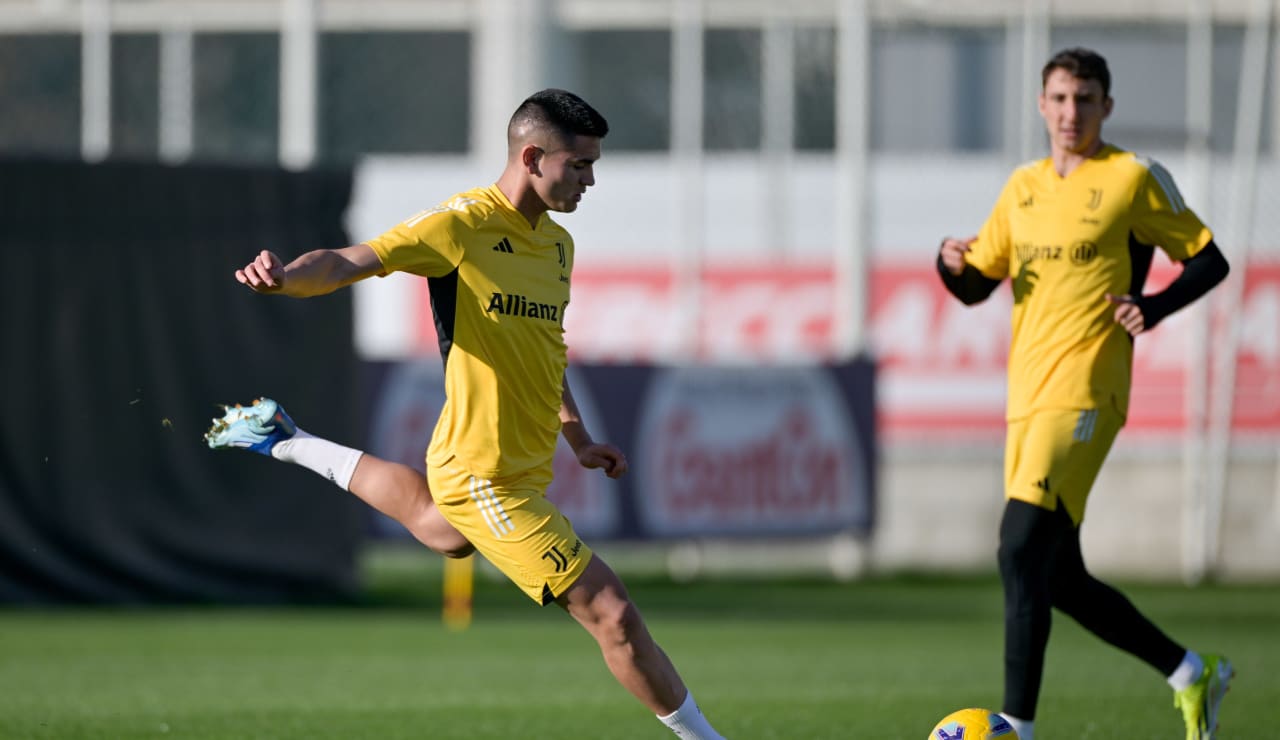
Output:
<instances>
[{"instance_id":1,"label":"kicking player's planted leg, from yellow shorts to white sock","mask_svg":"<svg viewBox=\"0 0 1280 740\"><path fill-rule=\"evenodd\" d=\"M678 737L721 740L640 617L626 586L599 556L556 602L595 638L609 672Z\"/></svg>"}]
</instances>

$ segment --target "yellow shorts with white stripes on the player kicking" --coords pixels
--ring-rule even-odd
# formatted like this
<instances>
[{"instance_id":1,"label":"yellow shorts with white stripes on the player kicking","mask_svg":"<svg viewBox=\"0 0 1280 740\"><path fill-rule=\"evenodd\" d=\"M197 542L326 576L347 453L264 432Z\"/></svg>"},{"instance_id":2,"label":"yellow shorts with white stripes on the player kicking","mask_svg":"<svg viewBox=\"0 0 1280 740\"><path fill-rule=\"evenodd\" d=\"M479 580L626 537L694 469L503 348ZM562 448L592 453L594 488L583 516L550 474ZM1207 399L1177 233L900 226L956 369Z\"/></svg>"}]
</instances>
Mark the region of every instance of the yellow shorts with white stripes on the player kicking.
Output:
<instances>
[{"instance_id":1,"label":"yellow shorts with white stripes on the player kicking","mask_svg":"<svg viewBox=\"0 0 1280 740\"><path fill-rule=\"evenodd\" d=\"M573 585L591 562L591 549L547 501L549 467L488 480L453 458L439 467L428 465L426 471L431 498L444 519L543 606Z\"/></svg>"}]
</instances>

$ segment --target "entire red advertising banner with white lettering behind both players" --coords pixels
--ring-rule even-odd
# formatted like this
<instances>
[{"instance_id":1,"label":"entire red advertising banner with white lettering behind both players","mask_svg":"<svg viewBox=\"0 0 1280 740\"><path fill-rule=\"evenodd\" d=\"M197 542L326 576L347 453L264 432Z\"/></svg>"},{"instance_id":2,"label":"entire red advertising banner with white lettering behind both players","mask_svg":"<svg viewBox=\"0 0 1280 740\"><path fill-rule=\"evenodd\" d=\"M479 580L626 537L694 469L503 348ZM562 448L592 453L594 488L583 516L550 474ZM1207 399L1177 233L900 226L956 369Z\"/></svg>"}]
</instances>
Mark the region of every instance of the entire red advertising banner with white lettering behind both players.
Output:
<instances>
[{"instance_id":1,"label":"entire red advertising banner with white lettering behind both players","mask_svg":"<svg viewBox=\"0 0 1280 740\"><path fill-rule=\"evenodd\" d=\"M1176 268L1157 257L1148 291ZM1217 318L1215 335L1236 330L1233 429L1280 433L1280 261L1235 265L1243 300ZM1236 286L1238 287L1238 286ZM1004 429L1009 347L1007 286L966 307L942 288L932 262L886 261L869 273L868 337L877 369L879 433L888 440ZM1220 287L1220 297L1230 286ZM782 364L835 358L836 282L831 265L721 265L703 271L699 323L666 265L573 274L566 334L575 361L594 364ZM435 346L422 283L420 348ZM1134 356L1130 433L1178 433L1187 426L1189 311L1139 337ZM692 344L687 344L692 337ZM1203 376L1194 374L1196 376ZM1207 375L1207 370L1204 371Z\"/></svg>"}]
</instances>

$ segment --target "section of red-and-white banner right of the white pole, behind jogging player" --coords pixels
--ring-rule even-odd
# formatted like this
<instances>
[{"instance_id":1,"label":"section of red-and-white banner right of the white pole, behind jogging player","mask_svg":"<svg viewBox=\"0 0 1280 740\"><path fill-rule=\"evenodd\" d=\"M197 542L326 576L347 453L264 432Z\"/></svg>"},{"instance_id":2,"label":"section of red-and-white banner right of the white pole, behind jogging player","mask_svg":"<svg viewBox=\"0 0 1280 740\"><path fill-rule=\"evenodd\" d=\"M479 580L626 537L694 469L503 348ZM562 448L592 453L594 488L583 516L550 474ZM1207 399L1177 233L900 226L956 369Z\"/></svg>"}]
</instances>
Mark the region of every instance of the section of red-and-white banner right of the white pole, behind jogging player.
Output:
<instances>
[{"instance_id":1,"label":"section of red-and-white banner right of the white pole, behind jogging player","mask_svg":"<svg viewBox=\"0 0 1280 740\"><path fill-rule=\"evenodd\" d=\"M1157 261L1147 291L1175 275L1175 266ZM1239 337L1233 429L1280 433L1280 262L1252 262L1229 278L1240 279L1239 310L1212 323L1215 333ZM1224 288L1229 286L1219 291ZM874 270L870 321L883 435L1002 429L1010 305L1007 284L966 307L946 293L932 269ZM1212 383L1211 351L1192 357L1193 320L1189 311L1175 314L1138 337L1129 434L1184 430L1189 376ZM1199 373L1190 373L1193 361L1203 364Z\"/></svg>"}]
</instances>

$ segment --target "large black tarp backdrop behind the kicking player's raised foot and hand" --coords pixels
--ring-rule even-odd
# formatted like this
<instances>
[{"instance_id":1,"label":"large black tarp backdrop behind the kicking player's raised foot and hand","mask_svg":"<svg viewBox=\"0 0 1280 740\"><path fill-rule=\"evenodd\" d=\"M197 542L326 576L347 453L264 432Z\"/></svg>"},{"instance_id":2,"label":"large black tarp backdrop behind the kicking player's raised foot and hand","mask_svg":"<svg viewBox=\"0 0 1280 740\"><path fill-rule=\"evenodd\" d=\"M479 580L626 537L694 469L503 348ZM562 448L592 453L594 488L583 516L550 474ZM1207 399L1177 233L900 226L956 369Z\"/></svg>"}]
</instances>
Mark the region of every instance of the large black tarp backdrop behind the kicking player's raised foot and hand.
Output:
<instances>
[{"instance_id":1,"label":"large black tarp backdrop behind the kicking player's raised foot and hand","mask_svg":"<svg viewBox=\"0 0 1280 740\"><path fill-rule=\"evenodd\" d=\"M355 594L360 503L202 440L216 402L268 394L362 443L349 291L233 278L346 245L349 193L349 172L0 161L0 602Z\"/></svg>"}]
</instances>

